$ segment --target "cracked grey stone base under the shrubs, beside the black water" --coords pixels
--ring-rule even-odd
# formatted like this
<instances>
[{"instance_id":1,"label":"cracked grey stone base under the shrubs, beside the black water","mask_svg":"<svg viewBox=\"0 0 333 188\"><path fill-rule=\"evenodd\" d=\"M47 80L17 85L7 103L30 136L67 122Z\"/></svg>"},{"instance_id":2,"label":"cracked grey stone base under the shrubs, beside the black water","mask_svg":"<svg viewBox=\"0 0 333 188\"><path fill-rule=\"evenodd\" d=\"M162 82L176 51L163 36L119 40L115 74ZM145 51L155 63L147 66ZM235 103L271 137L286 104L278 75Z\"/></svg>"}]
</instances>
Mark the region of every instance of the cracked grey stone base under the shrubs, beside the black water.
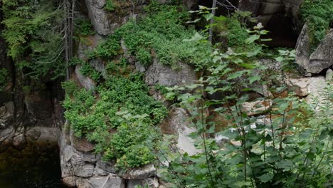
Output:
<instances>
[{"instance_id":1,"label":"cracked grey stone base under the shrubs, beside the black water","mask_svg":"<svg viewBox=\"0 0 333 188\"><path fill-rule=\"evenodd\" d=\"M63 182L78 188L134 188L135 185L159 185L154 164L129 169L120 173L114 162L104 162L100 155L93 153L92 145L73 132L63 132L59 138L60 167Z\"/></svg>"}]
</instances>

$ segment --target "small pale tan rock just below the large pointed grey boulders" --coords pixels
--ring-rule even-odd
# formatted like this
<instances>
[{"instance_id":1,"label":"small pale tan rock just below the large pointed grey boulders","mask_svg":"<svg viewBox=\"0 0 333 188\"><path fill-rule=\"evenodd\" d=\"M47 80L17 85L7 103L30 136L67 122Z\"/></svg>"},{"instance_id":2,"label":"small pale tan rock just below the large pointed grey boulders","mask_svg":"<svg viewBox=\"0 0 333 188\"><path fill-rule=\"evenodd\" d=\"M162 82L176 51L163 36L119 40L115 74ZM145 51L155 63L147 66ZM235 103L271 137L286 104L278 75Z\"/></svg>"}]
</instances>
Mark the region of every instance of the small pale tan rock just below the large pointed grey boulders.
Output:
<instances>
[{"instance_id":1,"label":"small pale tan rock just below the large pointed grey boulders","mask_svg":"<svg viewBox=\"0 0 333 188\"><path fill-rule=\"evenodd\" d=\"M289 78L286 80L288 89L295 92L299 97L305 97L308 94L307 85L309 85L308 78Z\"/></svg>"}]
</instances>

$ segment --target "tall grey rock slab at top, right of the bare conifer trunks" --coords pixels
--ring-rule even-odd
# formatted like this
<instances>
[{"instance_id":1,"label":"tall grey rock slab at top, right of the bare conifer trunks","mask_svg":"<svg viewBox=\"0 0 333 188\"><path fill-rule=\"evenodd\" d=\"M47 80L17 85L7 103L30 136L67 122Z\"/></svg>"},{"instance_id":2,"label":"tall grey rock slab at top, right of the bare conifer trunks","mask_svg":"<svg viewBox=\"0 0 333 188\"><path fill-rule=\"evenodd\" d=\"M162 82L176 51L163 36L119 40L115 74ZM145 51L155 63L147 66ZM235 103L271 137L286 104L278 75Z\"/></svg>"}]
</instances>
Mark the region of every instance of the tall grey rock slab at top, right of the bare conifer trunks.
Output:
<instances>
[{"instance_id":1,"label":"tall grey rock slab at top, right of the bare conifer trunks","mask_svg":"<svg viewBox=\"0 0 333 188\"><path fill-rule=\"evenodd\" d=\"M103 9L106 0L85 0L88 9L88 16L97 33L108 35L112 32L110 22L107 18L107 11Z\"/></svg>"}]
</instances>

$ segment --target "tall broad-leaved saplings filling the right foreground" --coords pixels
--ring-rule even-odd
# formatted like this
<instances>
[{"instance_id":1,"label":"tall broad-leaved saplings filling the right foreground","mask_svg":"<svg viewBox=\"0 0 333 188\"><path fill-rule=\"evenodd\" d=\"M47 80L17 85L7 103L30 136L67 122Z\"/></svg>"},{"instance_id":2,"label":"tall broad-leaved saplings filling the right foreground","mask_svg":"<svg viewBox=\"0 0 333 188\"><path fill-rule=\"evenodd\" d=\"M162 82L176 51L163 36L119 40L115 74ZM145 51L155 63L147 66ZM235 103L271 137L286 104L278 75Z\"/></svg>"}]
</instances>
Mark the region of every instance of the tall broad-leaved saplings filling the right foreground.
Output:
<instances>
[{"instance_id":1,"label":"tall broad-leaved saplings filling the right foreground","mask_svg":"<svg viewBox=\"0 0 333 188\"><path fill-rule=\"evenodd\" d=\"M260 41L265 31L258 24L250 33L253 34L245 40L248 44ZM242 91L255 88L253 83L262 85L269 81L262 80L263 65L248 61L256 54L257 49L242 53L216 49L209 73L198 83L168 88L169 98L179 101L178 105L190 113L189 121L196 129L190 137L202 150L194 155L170 152L174 148L172 137L153 138L159 140L157 157L168 163L160 170L162 178L173 183L173 187L332 186L332 86L328 85L322 93L324 105L319 108L311 108L289 93L286 98L259 99L267 104L260 111L264 115L249 115L243 108L248 95ZM295 61L295 52L280 54L277 60L283 71L288 71ZM220 99L205 98L204 93L217 92L223 92ZM226 129L215 131L221 122L207 115L208 110L226 120L219 125ZM218 142L218 137L227 141Z\"/></svg>"}]
</instances>

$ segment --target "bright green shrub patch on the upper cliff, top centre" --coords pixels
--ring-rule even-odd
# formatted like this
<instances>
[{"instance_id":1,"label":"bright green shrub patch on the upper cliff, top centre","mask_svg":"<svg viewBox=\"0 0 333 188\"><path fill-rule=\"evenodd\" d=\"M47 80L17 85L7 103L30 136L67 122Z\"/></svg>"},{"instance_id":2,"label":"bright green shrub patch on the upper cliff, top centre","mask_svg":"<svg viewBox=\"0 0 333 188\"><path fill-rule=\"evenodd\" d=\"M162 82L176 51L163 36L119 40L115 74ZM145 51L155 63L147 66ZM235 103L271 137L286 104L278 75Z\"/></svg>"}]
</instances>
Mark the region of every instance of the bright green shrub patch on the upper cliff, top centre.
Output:
<instances>
[{"instance_id":1,"label":"bright green shrub patch on the upper cliff, top centre","mask_svg":"<svg viewBox=\"0 0 333 188\"><path fill-rule=\"evenodd\" d=\"M208 43L186 40L195 31L185 28L183 23L189 19L189 14L180 9L153 1L145 9L147 16L129 21L115 33L122 36L129 53L136 55L146 66L151 62L152 49L164 65L176 66L184 61L202 68L208 63L206 57L211 47Z\"/></svg>"}]
</instances>

